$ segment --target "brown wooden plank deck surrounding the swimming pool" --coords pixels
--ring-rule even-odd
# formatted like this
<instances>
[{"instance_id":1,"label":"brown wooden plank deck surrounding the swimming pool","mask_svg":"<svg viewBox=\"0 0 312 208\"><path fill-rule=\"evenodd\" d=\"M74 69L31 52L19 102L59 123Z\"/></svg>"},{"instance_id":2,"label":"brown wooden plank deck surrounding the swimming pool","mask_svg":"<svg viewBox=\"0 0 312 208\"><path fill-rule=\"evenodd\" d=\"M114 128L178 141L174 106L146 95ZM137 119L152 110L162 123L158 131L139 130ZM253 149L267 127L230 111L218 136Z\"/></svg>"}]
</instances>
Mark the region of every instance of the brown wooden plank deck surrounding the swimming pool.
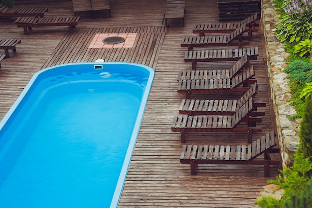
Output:
<instances>
[{"instance_id":1,"label":"brown wooden plank deck surrounding the swimming pool","mask_svg":"<svg viewBox=\"0 0 312 208\"><path fill-rule=\"evenodd\" d=\"M55 3L57 1L57 3ZM110 0L108 12L96 11L96 18L80 12L81 20L69 33L66 27L42 27L24 35L13 23L14 18L0 19L1 38L21 39L16 52L1 61L0 68L0 119L16 100L31 76L48 66L90 62L98 58L106 61L142 63L155 69L156 75L141 125L139 137L129 167L119 208L250 208L262 186L278 175L277 166L271 167L270 178L264 177L263 166L256 165L200 165L197 175L190 175L189 165L180 164L182 144L180 133L171 132L173 116L185 95L177 93L179 70L191 70L184 63L186 48L180 47L183 36L192 34L193 25L218 21L216 0L185 0L185 26L179 19L168 19L164 26L166 0ZM71 0L15 0L15 6L48 7L44 16L74 15ZM261 25L262 26L262 25ZM133 48L88 48L95 33L136 32ZM245 41L245 40L244 40ZM270 88L264 56L263 31L253 33L248 47L259 47L254 65L259 85L254 100L265 102L266 115L261 133L256 140L276 129ZM0 51L1 52L1 51ZM196 69L231 68L233 62L200 62ZM238 95L195 95L194 98L237 98ZM262 110L262 109L261 109ZM189 133L187 144L247 144L246 133ZM279 155L273 156L273 159Z\"/></svg>"}]
</instances>

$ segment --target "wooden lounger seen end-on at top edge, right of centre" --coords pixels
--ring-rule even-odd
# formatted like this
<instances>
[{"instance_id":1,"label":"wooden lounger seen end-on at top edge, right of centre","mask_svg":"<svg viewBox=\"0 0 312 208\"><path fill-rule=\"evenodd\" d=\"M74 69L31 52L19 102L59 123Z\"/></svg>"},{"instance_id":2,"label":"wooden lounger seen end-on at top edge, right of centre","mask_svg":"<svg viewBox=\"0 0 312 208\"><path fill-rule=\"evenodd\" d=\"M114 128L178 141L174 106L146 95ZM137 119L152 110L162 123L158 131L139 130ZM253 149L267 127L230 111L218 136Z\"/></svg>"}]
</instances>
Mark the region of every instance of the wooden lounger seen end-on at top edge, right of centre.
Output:
<instances>
[{"instance_id":1,"label":"wooden lounger seen end-on at top edge, right of centre","mask_svg":"<svg viewBox=\"0 0 312 208\"><path fill-rule=\"evenodd\" d=\"M181 18L184 26L184 13L185 0L167 0L167 8L163 16L165 25L169 26L167 23L169 18Z\"/></svg>"}]
</instances>

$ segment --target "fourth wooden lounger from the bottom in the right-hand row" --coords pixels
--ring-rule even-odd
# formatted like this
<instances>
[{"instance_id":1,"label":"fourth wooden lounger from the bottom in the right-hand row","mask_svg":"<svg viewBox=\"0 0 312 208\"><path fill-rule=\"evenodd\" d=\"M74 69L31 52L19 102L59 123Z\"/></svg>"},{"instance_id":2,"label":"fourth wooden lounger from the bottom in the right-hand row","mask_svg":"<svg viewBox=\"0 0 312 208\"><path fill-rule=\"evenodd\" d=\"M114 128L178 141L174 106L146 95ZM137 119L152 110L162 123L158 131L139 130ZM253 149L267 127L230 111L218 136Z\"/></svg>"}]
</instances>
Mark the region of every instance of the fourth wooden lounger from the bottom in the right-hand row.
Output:
<instances>
[{"instance_id":1,"label":"fourth wooden lounger from the bottom in the right-hand row","mask_svg":"<svg viewBox=\"0 0 312 208\"><path fill-rule=\"evenodd\" d=\"M190 99L192 93L246 92L251 82L255 81L251 80L254 76L251 65L232 78L178 80L177 92L185 94L186 99ZM242 84L244 87L239 87Z\"/></svg>"}]
</instances>

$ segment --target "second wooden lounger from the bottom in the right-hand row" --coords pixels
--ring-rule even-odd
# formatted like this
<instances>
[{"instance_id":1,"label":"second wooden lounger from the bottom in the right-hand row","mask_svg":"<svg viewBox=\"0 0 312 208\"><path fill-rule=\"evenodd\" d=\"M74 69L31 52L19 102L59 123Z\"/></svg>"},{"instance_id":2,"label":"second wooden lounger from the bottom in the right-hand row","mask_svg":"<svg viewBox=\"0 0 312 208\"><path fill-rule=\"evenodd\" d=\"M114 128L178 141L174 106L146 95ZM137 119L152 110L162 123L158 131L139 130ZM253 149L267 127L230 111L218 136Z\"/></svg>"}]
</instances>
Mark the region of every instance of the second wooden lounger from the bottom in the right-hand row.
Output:
<instances>
[{"instance_id":1,"label":"second wooden lounger from the bottom in the right-hand row","mask_svg":"<svg viewBox=\"0 0 312 208\"><path fill-rule=\"evenodd\" d=\"M253 132L262 128L253 127L261 118L251 118L252 97L249 98L234 115L176 115L173 118L171 131L180 132L181 142L185 143L186 132L247 132L247 142L252 143ZM240 123L246 126L238 127Z\"/></svg>"}]
</instances>

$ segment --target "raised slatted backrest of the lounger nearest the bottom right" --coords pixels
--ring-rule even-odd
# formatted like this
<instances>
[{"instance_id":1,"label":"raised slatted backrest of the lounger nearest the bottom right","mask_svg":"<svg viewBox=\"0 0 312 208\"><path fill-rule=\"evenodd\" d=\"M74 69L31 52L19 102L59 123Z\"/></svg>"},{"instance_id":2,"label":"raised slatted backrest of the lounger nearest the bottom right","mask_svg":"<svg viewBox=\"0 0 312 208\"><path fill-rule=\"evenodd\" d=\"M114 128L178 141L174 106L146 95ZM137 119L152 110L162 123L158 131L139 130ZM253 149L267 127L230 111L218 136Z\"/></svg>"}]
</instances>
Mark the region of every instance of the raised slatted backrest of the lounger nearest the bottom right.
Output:
<instances>
[{"instance_id":1,"label":"raised slatted backrest of the lounger nearest the bottom right","mask_svg":"<svg viewBox=\"0 0 312 208\"><path fill-rule=\"evenodd\" d=\"M275 134L274 130L272 130L270 133L248 145L246 159L252 160L275 146Z\"/></svg>"}]
</instances>

